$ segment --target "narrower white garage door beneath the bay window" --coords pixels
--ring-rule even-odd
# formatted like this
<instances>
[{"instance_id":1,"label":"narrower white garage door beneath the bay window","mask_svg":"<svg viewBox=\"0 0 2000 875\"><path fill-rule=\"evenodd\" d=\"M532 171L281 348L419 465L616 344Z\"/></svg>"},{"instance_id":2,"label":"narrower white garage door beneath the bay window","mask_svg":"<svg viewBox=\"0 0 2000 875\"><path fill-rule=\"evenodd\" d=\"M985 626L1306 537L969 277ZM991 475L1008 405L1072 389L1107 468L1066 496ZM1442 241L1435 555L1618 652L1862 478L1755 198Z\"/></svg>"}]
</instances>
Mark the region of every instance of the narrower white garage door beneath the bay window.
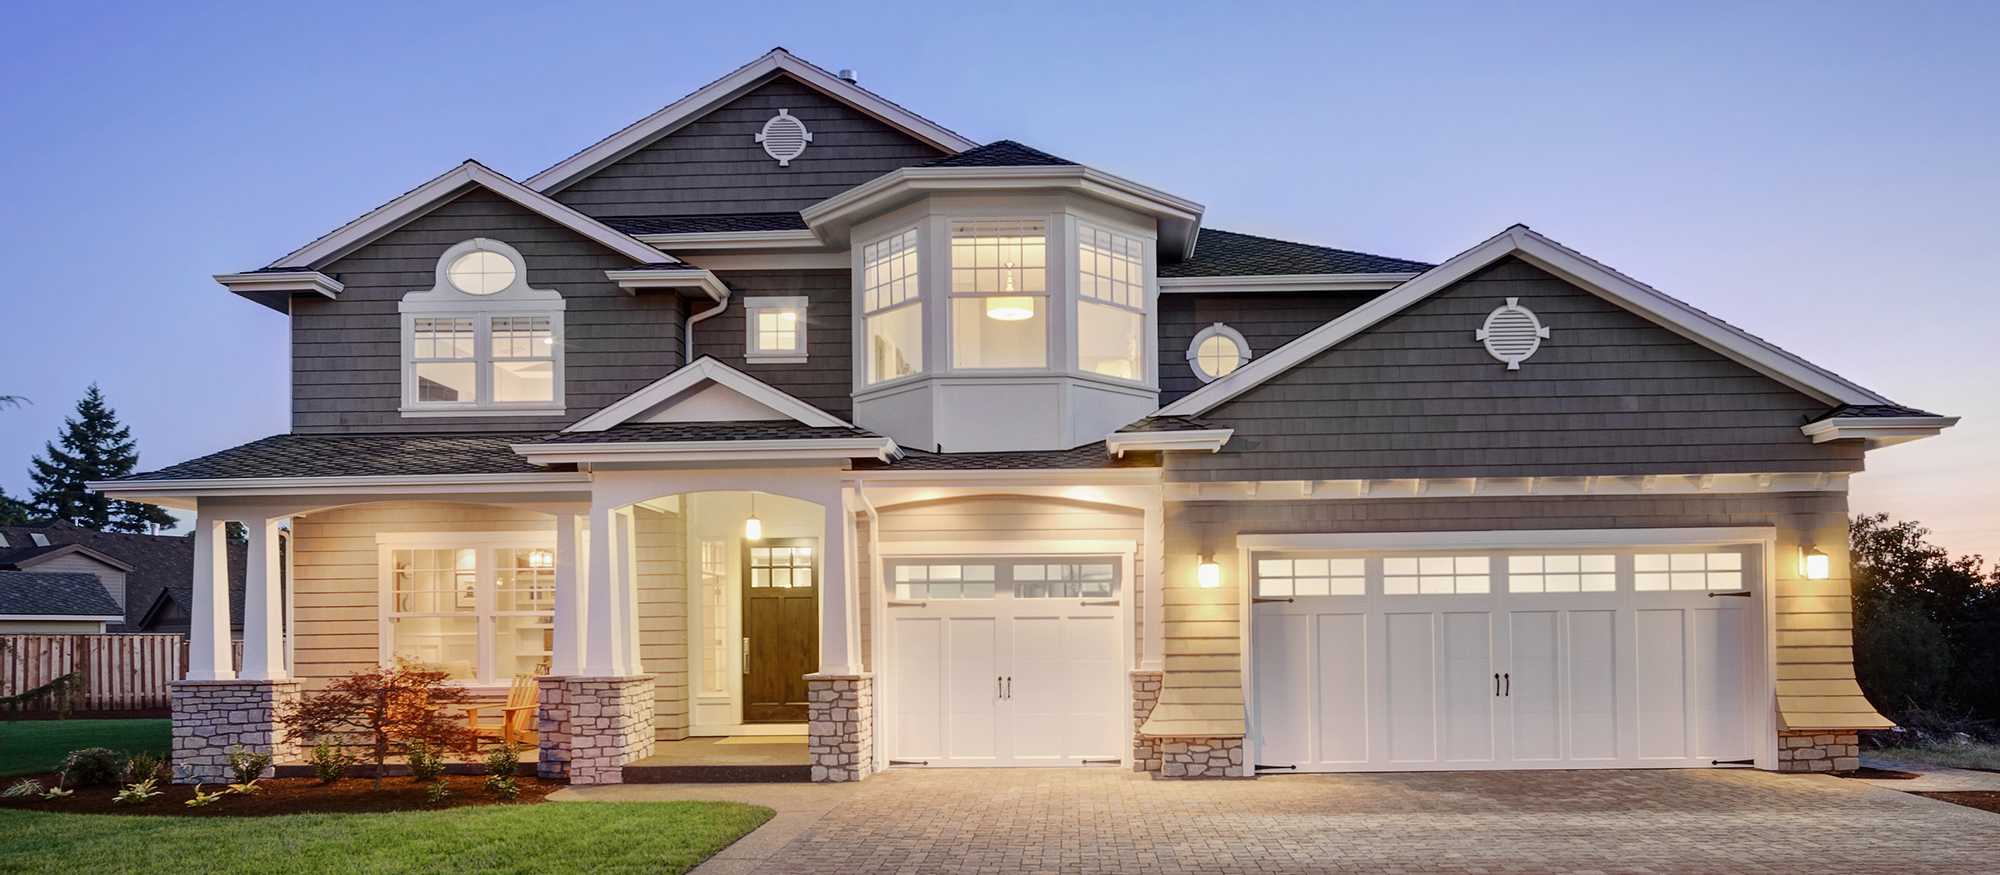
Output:
<instances>
[{"instance_id":1,"label":"narrower white garage door beneath the bay window","mask_svg":"<svg viewBox=\"0 0 2000 875\"><path fill-rule=\"evenodd\" d=\"M892 763L1124 755L1116 559L908 559L886 571Z\"/></svg>"}]
</instances>

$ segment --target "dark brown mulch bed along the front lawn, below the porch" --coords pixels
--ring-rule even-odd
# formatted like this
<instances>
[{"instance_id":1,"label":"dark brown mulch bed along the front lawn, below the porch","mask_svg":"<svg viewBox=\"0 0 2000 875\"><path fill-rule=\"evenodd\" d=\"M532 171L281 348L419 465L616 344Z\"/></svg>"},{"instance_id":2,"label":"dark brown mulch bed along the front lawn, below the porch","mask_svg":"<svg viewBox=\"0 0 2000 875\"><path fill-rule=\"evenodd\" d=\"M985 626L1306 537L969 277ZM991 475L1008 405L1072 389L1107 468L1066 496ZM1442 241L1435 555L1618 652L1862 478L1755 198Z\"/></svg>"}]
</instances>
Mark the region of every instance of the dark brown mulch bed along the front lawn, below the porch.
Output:
<instances>
[{"instance_id":1,"label":"dark brown mulch bed along the front lawn, below the porch","mask_svg":"<svg viewBox=\"0 0 2000 875\"><path fill-rule=\"evenodd\" d=\"M30 775L42 785L56 781L56 775ZM18 777L0 781L14 783ZM512 803L502 803L486 791L484 775L444 775L452 795L438 803L424 799L426 785L408 777L386 777L382 789L366 777L344 777L322 785L310 777L266 777L258 781L258 791L250 795L230 793L202 807L188 807L194 797L192 785L160 785L162 795L142 803L112 803L118 787L82 787L66 799L0 799L0 809L54 811L80 815L174 815L174 817L268 817L302 813L370 813L370 811L436 811L468 805L532 805L550 793L566 787L562 781L538 777L518 777L520 795ZM226 789L224 783L204 785L204 793Z\"/></svg>"}]
</instances>

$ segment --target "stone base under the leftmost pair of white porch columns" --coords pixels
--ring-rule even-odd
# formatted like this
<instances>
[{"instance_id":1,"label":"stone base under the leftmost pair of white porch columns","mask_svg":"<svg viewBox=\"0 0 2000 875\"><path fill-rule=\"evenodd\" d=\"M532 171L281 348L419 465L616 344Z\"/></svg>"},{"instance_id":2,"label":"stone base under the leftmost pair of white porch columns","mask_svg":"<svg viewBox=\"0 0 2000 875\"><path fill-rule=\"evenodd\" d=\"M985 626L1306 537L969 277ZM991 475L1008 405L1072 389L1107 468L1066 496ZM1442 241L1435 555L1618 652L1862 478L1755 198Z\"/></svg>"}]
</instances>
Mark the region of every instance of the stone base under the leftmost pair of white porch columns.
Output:
<instances>
[{"instance_id":1,"label":"stone base under the leftmost pair of white porch columns","mask_svg":"<svg viewBox=\"0 0 2000 875\"><path fill-rule=\"evenodd\" d=\"M174 783L230 777L230 749L300 759L300 745L278 713L298 705L298 681L174 681ZM270 769L264 769L270 775Z\"/></svg>"}]
</instances>

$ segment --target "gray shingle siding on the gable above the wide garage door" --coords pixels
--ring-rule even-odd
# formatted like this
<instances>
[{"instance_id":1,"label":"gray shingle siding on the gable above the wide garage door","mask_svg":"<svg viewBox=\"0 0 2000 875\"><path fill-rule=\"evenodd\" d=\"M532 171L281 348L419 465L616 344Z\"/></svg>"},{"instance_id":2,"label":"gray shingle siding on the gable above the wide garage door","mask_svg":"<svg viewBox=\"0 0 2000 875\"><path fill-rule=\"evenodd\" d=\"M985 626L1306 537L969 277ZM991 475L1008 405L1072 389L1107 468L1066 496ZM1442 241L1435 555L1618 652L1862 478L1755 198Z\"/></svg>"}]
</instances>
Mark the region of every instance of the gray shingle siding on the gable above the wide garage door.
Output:
<instances>
[{"instance_id":1,"label":"gray shingle siding on the gable above the wide garage door","mask_svg":"<svg viewBox=\"0 0 2000 875\"><path fill-rule=\"evenodd\" d=\"M1504 298L1520 298L1554 330L1518 372L1472 340ZM1168 477L1862 469L1860 445L1812 443L1798 432L1824 410L1506 260L1202 414L1236 438L1214 455L1174 453Z\"/></svg>"}]
</instances>

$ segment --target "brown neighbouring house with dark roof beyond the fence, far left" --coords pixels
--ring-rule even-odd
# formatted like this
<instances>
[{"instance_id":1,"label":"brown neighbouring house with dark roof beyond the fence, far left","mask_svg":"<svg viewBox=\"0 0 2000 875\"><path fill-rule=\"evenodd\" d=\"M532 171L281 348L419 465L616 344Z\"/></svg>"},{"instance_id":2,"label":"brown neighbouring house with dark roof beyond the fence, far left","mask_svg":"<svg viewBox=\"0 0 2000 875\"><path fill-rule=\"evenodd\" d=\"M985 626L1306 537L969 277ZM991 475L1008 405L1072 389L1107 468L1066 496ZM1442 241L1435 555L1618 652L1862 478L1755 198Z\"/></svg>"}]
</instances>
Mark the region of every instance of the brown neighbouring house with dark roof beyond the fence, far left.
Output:
<instances>
[{"instance_id":1,"label":"brown neighbouring house with dark roof beyond the fence, far left","mask_svg":"<svg viewBox=\"0 0 2000 875\"><path fill-rule=\"evenodd\" d=\"M244 545L230 543L230 627L242 635ZM194 599L194 539L96 531L64 521L0 525L0 571L82 571L96 575L118 607L116 619L88 631L188 633ZM8 629L0 631L26 631ZM40 629L38 629L40 631Z\"/></svg>"}]
</instances>

